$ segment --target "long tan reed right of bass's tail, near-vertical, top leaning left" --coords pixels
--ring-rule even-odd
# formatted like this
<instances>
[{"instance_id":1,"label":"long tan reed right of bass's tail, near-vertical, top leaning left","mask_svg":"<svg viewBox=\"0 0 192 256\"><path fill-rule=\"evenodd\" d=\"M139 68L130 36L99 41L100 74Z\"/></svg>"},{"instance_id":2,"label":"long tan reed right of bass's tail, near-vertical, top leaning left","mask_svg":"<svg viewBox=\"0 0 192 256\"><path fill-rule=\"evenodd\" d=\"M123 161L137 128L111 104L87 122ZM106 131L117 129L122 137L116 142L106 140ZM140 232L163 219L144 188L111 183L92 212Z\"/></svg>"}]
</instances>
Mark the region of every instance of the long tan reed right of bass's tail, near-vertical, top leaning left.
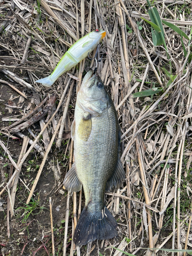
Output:
<instances>
[{"instance_id":1,"label":"long tan reed right of bass's tail, near-vertical, top leaning left","mask_svg":"<svg viewBox=\"0 0 192 256\"><path fill-rule=\"evenodd\" d=\"M139 161L139 168L140 168L145 202L146 202L146 204L150 204L150 198L148 196L147 185L145 183L145 176L144 176L144 170L143 170L142 162L141 162L138 140L136 140L136 149L137 149L137 157L138 157L138 161ZM152 216L151 216L150 209L147 208L146 212L147 212L147 220L148 220L148 242L149 242L149 247L153 248Z\"/></svg>"}]
</instances>

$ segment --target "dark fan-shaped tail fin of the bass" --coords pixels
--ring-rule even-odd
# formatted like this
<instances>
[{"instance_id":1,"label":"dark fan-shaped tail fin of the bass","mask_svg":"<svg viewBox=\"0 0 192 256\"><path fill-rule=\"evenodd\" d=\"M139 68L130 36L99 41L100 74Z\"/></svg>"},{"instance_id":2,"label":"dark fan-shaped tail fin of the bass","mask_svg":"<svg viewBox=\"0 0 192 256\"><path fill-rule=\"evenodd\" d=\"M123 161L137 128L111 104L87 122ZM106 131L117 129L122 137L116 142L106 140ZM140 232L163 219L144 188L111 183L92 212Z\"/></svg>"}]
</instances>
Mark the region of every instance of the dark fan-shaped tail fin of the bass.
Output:
<instances>
[{"instance_id":1,"label":"dark fan-shaped tail fin of the bass","mask_svg":"<svg viewBox=\"0 0 192 256\"><path fill-rule=\"evenodd\" d=\"M87 211L85 207L77 223L74 242L81 246L96 239L111 239L117 236L117 222L108 208L104 207L102 212L96 215Z\"/></svg>"}]
</instances>

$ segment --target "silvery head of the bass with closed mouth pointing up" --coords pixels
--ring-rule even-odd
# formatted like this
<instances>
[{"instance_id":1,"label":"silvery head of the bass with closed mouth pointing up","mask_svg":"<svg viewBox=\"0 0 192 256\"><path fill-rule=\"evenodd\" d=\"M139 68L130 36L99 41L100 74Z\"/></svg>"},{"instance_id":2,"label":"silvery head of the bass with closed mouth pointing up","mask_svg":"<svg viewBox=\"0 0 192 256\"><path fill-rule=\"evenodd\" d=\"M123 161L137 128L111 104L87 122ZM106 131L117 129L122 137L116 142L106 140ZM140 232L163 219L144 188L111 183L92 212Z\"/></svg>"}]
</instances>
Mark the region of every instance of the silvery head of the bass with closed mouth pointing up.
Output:
<instances>
[{"instance_id":1,"label":"silvery head of the bass with closed mouth pointing up","mask_svg":"<svg viewBox=\"0 0 192 256\"><path fill-rule=\"evenodd\" d=\"M108 108L109 95L99 75L92 75L93 71L89 71L84 77L77 101L82 110L96 117Z\"/></svg>"}]
</instances>

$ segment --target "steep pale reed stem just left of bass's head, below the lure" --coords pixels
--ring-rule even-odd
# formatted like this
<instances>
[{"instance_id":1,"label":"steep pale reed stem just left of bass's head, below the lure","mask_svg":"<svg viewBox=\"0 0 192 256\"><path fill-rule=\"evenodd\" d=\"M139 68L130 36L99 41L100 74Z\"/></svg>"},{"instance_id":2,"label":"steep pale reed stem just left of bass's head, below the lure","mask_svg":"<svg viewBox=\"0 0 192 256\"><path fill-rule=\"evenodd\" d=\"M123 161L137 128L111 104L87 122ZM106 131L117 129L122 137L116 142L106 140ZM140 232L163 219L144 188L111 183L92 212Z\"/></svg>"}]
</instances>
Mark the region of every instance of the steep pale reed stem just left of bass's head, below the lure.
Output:
<instances>
[{"instance_id":1,"label":"steep pale reed stem just left of bass's head, below the lure","mask_svg":"<svg viewBox=\"0 0 192 256\"><path fill-rule=\"evenodd\" d=\"M68 86L69 86L70 81L71 81L71 78L68 81ZM66 105L65 105L65 109L63 111L61 125L60 125L60 129L59 129L59 133L58 133L58 139L57 139L57 142L56 142L56 146L57 147L61 146L62 133L63 133L64 127L65 127L65 122L66 122L66 117L67 117L67 113L68 113L69 103L70 103L70 100L71 100L71 95L72 95L72 92L73 92L74 82L75 82L75 80L73 80L73 82L71 84L71 88L70 88L70 91L69 91L68 99L67 99L67 102L66 102Z\"/></svg>"}]
</instances>

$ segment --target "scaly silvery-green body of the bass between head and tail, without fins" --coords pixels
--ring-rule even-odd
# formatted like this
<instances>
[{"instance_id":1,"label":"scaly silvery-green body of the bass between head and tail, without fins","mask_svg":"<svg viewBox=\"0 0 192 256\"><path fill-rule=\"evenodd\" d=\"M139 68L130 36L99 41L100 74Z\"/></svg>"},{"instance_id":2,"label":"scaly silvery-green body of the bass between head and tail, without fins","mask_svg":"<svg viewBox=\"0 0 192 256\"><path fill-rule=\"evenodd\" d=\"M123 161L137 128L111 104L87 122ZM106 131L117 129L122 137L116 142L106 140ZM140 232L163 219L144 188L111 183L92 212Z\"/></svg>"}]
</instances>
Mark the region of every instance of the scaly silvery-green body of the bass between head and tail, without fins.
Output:
<instances>
[{"instance_id":1,"label":"scaly silvery-green body of the bass between head and tail, without fins","mask_svg":"<svg viewBox=\"0 0 192 256\"><path fill-rule=\"evenodd\" d=\"M92 132L88 141L78 136L78 125L84 111L76 105L74 155L76 171L83 185L86 205L92 212L104 207L106 182L112 176L118 159L118 121L111 100L108 109L92 118ZM99 199L99 200L98 200Z\"/></svg>"}]
</instances>

